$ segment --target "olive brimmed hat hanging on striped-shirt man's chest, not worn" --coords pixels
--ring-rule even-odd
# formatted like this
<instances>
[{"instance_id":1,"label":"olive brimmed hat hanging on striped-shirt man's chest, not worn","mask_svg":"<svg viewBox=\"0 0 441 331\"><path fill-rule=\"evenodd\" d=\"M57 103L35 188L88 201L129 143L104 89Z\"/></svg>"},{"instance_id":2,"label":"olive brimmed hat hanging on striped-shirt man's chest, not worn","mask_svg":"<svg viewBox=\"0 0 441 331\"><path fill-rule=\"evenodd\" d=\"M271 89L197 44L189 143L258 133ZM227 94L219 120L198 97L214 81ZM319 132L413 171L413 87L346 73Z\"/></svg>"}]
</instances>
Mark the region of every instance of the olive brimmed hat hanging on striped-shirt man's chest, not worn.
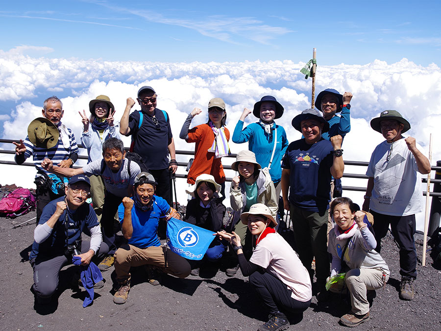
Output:
<instances>
[{"instance_id":1,"label":"olive brimmed hat hanging on striped-shirt man's chest, not worn","mask_svg":"<svg viewBox=\"0 0 441 331\"><path fill-rule=\"evenodd\" d=\"M27 137L29 141L40 148L49 149L58 144L60 132L46 117L38 117L27 127Z\"/></svg>"}]
</instances>

